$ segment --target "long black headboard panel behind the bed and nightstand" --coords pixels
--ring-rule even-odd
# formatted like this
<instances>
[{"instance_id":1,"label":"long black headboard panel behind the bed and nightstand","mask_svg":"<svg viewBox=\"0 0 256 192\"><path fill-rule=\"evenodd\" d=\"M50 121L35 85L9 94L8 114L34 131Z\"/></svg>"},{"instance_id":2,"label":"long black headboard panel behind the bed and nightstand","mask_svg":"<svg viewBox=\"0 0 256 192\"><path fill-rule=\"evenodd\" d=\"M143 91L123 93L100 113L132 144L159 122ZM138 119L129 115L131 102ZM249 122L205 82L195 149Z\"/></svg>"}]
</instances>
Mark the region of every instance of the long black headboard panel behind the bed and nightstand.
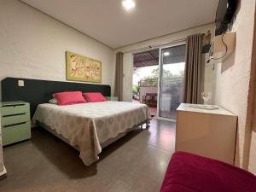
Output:
<instances>
[{"instance_id":1,"label":"long black headboard panel behind the bed and nightstand","mask_svg":"<svg viewBox=\"0 0 256 192\"><path fill-rule=\"evenodd\" d=\"M18 80L24 80L23 87L18 86ZM3 79L1 84L3 102L30 102L32 114L35 112L38 104L48 102L55 92L81 90L83 92L101 92L103 96L110 96L111 93L110 86L105 84L81 84L18 78Z\"/></svg>"}]
</instances>

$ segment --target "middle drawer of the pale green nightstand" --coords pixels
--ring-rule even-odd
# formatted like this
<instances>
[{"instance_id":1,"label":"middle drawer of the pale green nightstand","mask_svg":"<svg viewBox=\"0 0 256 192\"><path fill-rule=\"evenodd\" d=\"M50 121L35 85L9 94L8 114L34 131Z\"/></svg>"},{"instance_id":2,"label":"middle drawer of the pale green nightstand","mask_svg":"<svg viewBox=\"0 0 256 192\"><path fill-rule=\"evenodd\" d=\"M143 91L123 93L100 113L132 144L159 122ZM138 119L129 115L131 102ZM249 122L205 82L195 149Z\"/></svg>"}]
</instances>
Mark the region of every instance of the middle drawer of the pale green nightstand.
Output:
<instances>
[{"instance_id":1,"label":"middle drawer of the pale green nightstand","mask_svg":"<svg viewBox=\"0 0 256 192\"><path fill-rule=\"evenodd\" d=\"M2 116L2 126L5 125L15 125L19 123L24 123L26 121L30 121L29 113L20 113L10 116Z\"/></svg>"}]
</instances>

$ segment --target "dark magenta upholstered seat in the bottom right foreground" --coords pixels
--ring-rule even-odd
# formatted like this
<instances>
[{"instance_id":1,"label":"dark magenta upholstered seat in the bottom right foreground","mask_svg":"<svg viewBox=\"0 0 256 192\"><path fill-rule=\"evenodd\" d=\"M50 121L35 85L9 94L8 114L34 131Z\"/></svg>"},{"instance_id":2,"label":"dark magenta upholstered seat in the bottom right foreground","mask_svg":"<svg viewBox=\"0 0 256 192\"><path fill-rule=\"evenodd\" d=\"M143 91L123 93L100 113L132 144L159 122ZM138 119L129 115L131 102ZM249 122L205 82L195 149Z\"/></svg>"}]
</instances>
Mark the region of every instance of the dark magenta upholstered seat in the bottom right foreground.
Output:
<instances>
[{"instance_id":1,"label":"dark magenta upholstered seat in the bottom right foreground","mask_svg":"<svg viewBox=\"0 0 256 192\"><path fill-rule=\"evenodd\" d=\"M176 152L160 192L255 192L256 177L236 166Z\"/></svg>"}]
</instances>

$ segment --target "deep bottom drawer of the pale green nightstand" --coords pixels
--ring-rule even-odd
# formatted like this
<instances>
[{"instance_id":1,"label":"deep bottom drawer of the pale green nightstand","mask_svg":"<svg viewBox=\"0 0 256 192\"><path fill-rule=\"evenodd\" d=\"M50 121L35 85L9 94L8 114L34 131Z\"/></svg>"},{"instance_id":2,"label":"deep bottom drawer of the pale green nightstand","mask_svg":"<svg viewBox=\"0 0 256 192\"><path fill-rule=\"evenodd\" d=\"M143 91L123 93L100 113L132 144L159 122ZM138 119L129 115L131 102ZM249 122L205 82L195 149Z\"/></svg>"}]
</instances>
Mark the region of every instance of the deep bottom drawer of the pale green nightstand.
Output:
<instances>
[{"instance_id":1,"label":"deep bottom drawer of the pale green nightstand","mask_svg":"<svg viewBox=\"0 0 256 192\"><path fill-rule=\"evenodd\" d=\"M3 127L3 145L20 142L22 140L29 139L31 137L31 125L30 122L26 122L19 125L12 125Z\"/></svg>"}]
</instances>

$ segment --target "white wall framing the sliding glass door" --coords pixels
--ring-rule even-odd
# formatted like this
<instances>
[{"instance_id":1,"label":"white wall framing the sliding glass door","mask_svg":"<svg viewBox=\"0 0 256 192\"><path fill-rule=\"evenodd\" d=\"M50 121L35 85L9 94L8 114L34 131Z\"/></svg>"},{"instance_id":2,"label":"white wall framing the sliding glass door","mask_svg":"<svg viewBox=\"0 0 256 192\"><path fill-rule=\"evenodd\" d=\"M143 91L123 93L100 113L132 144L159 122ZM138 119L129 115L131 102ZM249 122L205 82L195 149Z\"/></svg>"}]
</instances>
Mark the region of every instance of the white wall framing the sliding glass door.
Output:
<instances>
[{"instance_id":1,"label":"white wall framing the sliding glass door","mask_svg":"<svg viewBox=\"0 0 256 192\"><path fill-rule=\"evenodd\" d=\"M214 34L214 25L209 24L206 26L198 26L195 28L191 28L188 30L184 30L182 32L175 32L169 35L162 36L160 38L153 38L148 41L144 41L137 44L132 44L129 46L125 46L120 49L115 49L115 53L118 51L124 52L124 89L123 89L123 97L124 101L131 102L131 88L132 88L132 68L133 68L133 53L135 49L142 49L148 47L149 45L154 44L166 44L169 42L175 42L180 39L184 39L189 35L195 33L206 33L207 30L211 30L212 36ZM155 49L155 48L154 48ZM207 78L207 80L211 81L208 83L203 83L207 86L207 90L212 90L212 78L213 78L213 71L212 71L212 64L205 66L206 75L210 75L211 78Z\"/></svg>"}]
</instances>

